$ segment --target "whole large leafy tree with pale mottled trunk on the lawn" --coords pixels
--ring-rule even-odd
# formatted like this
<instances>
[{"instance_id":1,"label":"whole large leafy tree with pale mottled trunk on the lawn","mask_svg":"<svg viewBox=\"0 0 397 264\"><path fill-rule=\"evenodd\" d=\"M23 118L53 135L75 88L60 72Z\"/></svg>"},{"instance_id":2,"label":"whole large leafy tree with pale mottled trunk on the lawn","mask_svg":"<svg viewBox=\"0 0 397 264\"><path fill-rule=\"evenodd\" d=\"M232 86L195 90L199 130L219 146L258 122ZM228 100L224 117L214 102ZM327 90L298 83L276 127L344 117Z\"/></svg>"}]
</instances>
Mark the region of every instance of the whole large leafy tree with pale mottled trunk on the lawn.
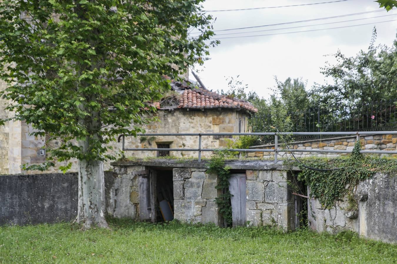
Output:
<instances>
[{"instance_id":1,"label":"whole large leafy tree with pale mottled trunk on the lawn","mask_svg":"<svg viewBox=\"0 0 397 264\"><path fill-rule=\"evenodd\" d=\"M197 57L208 55L213 32L200 0L4 0L0 2L0 68L12 103L8 120L25 120L34 135L62 139L45 169L79 161L77 222L106 227L103 161L106 143L144 132L154 111ZM187 28L202 34L189 38ZM201 62L201 60L198 60ZM131 122L133 127L131 127ZM66 170L70 167L63 167Z\"/></svg>"}]
</instances>

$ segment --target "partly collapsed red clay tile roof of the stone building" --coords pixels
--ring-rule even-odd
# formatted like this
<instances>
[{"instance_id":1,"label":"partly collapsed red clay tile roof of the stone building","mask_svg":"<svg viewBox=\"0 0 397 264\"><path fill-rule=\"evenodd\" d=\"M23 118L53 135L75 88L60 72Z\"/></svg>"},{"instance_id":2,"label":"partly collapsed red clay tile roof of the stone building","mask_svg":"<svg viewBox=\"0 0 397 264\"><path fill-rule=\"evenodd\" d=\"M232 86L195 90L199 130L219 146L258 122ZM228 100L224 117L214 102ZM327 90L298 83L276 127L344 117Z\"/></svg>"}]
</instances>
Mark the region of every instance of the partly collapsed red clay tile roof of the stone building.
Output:
<instances>
[{"instance_id":1,"label":"partly collapsed red clay tile roof of the stone building","mask_svg":"<svg viewBox=\"0 0 397 264\"><path fill-rule=\"evenodd\" d=\"M202 87L196 88L188 81L177 82L172 80L171 87L173 91L179 94L179 104L177 108L196 108L202 110L206 108L233 108L235 110L241 109L253 113L258 112L258 109L247 101L229 98ZM160 106L160 103L158 106Z\"/></svg>"}]
</instances>

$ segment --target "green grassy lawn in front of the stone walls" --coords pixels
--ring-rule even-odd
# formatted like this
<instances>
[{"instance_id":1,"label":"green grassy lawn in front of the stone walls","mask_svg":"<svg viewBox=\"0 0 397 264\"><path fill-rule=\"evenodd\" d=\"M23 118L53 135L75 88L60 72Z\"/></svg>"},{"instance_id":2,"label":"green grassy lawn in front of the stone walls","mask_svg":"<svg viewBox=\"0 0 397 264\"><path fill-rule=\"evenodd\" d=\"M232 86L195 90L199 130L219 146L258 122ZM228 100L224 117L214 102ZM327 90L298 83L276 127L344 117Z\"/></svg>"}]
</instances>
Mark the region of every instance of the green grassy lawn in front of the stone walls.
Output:
<instances>
[{"instance_id":1,"label":"green grassy lawn in front of the stone walls","mask_svg":"<svg viewBox=\"0 0 397 264\"><path fill-rule=\"evenodd\" d=\"M0 263L396 263L397 245L351 232L282 234L179 223L110 220L86 232L69 223L0 227Z\"/></svg>"}]
</instances>

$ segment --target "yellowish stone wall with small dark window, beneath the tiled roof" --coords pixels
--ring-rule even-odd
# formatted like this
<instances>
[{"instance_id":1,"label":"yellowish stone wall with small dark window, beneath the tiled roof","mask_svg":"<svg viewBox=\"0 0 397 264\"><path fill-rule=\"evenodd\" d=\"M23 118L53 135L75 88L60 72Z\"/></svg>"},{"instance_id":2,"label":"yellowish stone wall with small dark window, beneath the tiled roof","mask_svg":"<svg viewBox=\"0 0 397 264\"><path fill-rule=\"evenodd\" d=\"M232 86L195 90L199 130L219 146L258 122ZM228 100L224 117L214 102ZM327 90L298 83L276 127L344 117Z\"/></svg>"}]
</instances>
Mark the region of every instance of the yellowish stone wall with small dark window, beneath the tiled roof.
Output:
<instances>
[{"instance_id":1,"label":"yellowish stone wall with small dark window, beneath the tiled roof","mask_svg":"<svg viewBox=\"0 0 397 264\"><path fill-rule=\"evenodd\" d=\"M207 109L190 110L178 109L174 111L159 110L156 116L160 122L151 123L144 128L146 133L235 133L239 132L239 118L247 116L245 112L235 110L213 110ZM243 125L243 124L242 124ZM247 126L247 124L245 124ZM245 127L247 129L247 127ZM241 131L244 127L241 127ZM198 136L156 136L146 137L141 142L142 137L126 137L126 148L157 148L157 144L170 144L170 148L198 148ZM202 136L202 148L218 148L227 146L229 137ZM112 143L112 146L119 149L120 143ZM126 151L126 156L135 158L156 157L156 151ZM203 157L208 157L211 152L202 152ZM171 151L170 156L175 157L198 157L197 152Z\"/></svg>"}]
</instances>

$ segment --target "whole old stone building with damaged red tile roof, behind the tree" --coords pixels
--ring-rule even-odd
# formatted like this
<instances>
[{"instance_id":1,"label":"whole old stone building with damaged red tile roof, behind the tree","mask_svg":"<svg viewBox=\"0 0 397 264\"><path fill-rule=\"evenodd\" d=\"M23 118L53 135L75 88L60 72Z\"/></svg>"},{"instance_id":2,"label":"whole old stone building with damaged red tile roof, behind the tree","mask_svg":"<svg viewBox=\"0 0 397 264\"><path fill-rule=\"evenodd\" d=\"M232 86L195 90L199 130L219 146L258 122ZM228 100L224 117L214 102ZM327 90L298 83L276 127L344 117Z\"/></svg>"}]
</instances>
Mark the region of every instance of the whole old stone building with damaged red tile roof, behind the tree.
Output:
<instances>
[{"instance_id":1,"label":"whole old stone building with damaged red tile roof, behind the tree","mask_svg":"<svg viewBox=\"0 0 397 264\"><path fill-rule=\"evenodd\" d=\"M244 132L247 131L246 118L257 110L252 104L220 95L201 87L195 87L190 82L171 82L169 91L160 102L154 102L157 111L153 116L158 122L146 125L146 133L212 133L212 132ZM4 89L4 83L1 87ZM1 100L1 99L0 99ZM1 109L7 102L0 101ZM0 118L9 113L0 110ZM33 131L25 122L8 122L0 126L0 174L27 173L21 170L25 163L39 164L45 161L45 148L56 147L57 142L46 142L45 138L29 135ZM218 148L226 146L230 141L228 137L202 137L202 148ZM112 142L111 154L117 156L121 144ZM125 147L129 148L198 148L198 137L173 136L173 137L126 137ZM204 153L209 156L211 153ZM192 156L197 158L195 152L158 152L135 151L125 154L135 158L156 156ZM77 171L77 160L72 160L71 171ZM57 166L65 165L57 163ZM110 169L109 162L105 163L105 170ZM55 172L50 168L46 172ZM29 173L43 173L29 171Z\"/></svg>"}]
</instances>

